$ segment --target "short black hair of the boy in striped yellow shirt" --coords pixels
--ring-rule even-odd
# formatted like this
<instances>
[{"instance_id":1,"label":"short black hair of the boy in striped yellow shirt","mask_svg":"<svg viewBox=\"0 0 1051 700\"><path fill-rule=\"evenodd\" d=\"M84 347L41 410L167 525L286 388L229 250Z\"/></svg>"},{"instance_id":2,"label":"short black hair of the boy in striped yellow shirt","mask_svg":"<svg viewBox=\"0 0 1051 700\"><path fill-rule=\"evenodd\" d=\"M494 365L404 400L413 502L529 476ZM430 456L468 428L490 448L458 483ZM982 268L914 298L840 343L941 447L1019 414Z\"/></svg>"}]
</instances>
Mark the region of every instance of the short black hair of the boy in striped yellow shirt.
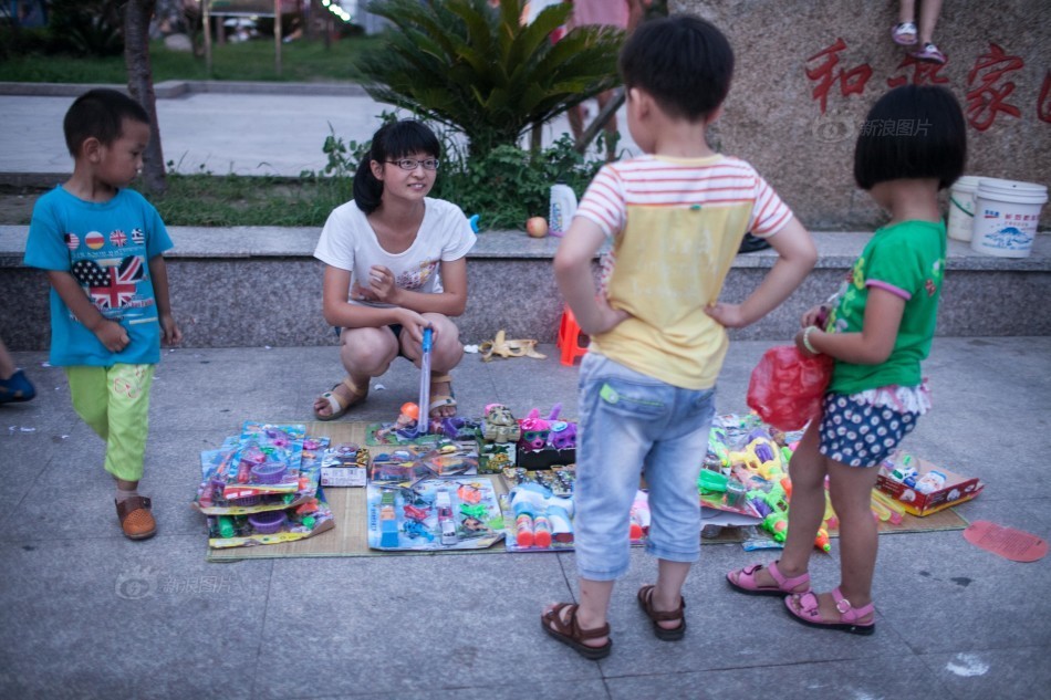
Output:
<instances>
[{"instance_id":1,"label":"short black hair of the boy in striped yellow shirt","mask_svg":"<svg viewBox=\"0 0 1051 700\"><path fill-rule=\"evenodd\" d=\"M730 92L733 50L715 24L678 14L644 22L620 59L624 84L645 91L672 118L707 118Z\"/></svg>"}]
</instances>

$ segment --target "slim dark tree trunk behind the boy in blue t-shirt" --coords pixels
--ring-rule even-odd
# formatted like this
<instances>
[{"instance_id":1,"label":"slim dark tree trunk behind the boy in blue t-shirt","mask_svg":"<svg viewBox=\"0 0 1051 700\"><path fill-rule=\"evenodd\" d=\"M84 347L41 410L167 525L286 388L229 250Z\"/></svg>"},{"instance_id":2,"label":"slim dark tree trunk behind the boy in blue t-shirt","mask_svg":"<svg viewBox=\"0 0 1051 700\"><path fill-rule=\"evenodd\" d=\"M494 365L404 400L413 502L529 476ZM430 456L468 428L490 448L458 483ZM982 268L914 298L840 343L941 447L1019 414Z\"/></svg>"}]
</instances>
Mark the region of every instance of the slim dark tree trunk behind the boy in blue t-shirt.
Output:
<instances>
[{"instance_id":1,"label":"slim dark tree trunk behind the boy in blue t-shirt","mask_svg":"<svg viewBox=\"0 0 1051 700\"><path fill-rule=\"evenodd\" d=\"M149 20L156 0L127 0L124 8L124 64L127 67L127 88L149 115L152 138L143 156L143 180L150 192L163 194L168 184L164 173L164 150L160 148L160 127L157 123L157 97L149 66Z\"/></svg>"}]
</instances>

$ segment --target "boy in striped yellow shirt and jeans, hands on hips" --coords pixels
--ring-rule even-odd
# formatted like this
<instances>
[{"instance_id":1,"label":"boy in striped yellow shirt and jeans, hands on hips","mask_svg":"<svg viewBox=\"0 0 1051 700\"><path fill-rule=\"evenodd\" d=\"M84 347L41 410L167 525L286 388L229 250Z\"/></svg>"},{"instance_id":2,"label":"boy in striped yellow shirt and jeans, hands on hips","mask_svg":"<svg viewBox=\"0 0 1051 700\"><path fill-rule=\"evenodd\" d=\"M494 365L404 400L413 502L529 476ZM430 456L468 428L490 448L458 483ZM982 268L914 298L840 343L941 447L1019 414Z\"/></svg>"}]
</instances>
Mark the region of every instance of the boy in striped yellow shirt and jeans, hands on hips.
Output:
<instances>
[{"instance_id":1,"label":"boy in striped yellow shirt and jeans, hands on hips","mask_svg":"<svg viewBox=\"0 0 1051 700\"><path fill-rule=\"evenodd\" d=\"M580 604L550 606L541 624L592 659L612 647L606 613L628 568L639 470L652 512L646 548L658 571L638 604L658 638L685 634L681 589L700 553L696 484L726 327L764 316L816 260L810 234L756 170L707 145L733 72L716 27L688 15L646 22L620 67L628 128L647 155L603 166L554 260L559 288L592 343L581 365L574 488ZM779 259L742 303L719 302L749 230ZM615 265L596 295L591 264L607 238Z\"/></svg>"}]
</instances>

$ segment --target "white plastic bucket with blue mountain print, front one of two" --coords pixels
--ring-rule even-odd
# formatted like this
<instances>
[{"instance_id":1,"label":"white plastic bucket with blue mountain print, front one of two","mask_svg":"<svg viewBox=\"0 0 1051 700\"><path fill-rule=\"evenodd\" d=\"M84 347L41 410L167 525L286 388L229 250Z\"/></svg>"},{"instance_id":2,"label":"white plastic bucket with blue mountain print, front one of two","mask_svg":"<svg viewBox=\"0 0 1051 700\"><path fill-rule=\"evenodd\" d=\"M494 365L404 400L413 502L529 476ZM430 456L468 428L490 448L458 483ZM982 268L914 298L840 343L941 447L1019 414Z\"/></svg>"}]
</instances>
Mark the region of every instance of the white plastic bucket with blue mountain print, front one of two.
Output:
<instances>
[{"instance_id":1,"label":"white plastic bucket with blue mountain print, front one of two","mask_svg":"<svg viewBox=\"0 0 1051 700\"><path fill-rule=\"evenodd\" d=\"M981 178L975 190L971 249L1000 258L1026 258L1032 252L1045 201L1048 188L1043 185Z\"/></svg>"}]
</instances>

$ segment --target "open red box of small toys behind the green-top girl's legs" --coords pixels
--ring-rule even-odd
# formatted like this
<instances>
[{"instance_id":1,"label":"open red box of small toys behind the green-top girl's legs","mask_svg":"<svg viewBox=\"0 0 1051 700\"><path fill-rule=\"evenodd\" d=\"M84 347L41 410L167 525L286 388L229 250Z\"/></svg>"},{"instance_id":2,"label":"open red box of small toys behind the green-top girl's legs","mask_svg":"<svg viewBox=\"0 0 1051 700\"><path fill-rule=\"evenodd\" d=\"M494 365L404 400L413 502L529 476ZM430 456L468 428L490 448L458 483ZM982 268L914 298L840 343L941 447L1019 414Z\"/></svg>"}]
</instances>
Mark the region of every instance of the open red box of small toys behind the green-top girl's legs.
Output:
<instances>
[{"instance_id":1,"label":"open red box of small toys behind the green-top girl's legs","mask_svg":"<svg viewBox=\"0 0 1051 700\"><path fill-rule=\"evenodd\" d=\"M977 477L964 477L908 452L897 451L880 467L876 488L901 501L913 515L937 513L969 501L986 484Z\"/></svg>"}]
</instances>

